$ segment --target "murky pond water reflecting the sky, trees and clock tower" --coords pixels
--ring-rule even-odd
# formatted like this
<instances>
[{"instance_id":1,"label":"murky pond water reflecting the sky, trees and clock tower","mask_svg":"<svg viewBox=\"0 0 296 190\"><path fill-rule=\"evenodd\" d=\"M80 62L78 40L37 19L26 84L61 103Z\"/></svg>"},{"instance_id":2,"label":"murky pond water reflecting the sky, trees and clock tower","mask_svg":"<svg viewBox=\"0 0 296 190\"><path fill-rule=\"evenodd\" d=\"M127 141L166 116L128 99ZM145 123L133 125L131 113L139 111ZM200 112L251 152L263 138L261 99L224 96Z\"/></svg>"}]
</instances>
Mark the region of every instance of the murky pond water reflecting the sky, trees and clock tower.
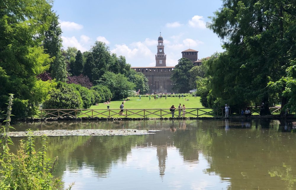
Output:
<instances>
[{"instance_id":1,"label":"murky pond water reflecting the sky, trees and clock tower","mask_svg":"<svg viewBox=\"0 0 296 190\"><path fill-rule=\"evenodd\" d=\"M295 189L296 122L147 120L18 123L17 131L161 130L150 135L48 138L54 176L73 189ZM12 137L17 141L25 137ZM36 137L36 148L40 137Z\"/></svg>"}]
</instances>

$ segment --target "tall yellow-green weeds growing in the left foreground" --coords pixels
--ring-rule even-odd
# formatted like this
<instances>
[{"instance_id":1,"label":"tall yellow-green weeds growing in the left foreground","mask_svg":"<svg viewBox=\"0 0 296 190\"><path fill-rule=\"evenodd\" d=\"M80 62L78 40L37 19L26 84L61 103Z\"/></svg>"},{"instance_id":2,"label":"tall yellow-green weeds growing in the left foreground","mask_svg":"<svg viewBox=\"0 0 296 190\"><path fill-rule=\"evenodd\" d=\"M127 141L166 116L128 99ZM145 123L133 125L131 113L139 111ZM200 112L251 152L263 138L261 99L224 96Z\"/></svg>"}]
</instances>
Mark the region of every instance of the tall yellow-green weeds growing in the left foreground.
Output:
<instances>
[{"instance_id":1,"label":"tall yellow-green weeds growing in the left foreground","mask_svg":"<svg viewBox=\"0 0 296 190\"><path fill-rule=\"evenodd\" d=\"M10 126L13 94L10 94L7 107L6 122L1 126L0 140L2 152L0 158L0 189L59 189L60 179L52 175L57 163L46 158L47 137L42 136L42 148L35 150L34 137L31 130L28 130L27 140L21 140L16 154L11 153L8 145L13 142L7 133ZM73 184L69 186L71 189Z\"/></svg>"}]
</instances>

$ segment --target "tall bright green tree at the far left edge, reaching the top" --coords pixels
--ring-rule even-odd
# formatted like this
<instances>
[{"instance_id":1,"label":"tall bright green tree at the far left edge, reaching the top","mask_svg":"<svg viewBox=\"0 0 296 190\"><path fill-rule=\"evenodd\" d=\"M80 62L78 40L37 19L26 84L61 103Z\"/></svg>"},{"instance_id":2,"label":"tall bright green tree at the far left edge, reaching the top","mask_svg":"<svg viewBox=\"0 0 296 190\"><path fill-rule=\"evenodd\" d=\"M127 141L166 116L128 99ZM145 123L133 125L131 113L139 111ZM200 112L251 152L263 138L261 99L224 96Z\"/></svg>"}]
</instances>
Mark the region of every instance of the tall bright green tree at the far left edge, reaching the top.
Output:
<instances>
[{"instance_id":1,"label":"tall bright green tree at the far left edge, reaching the top","mask_svg":"<svg viewBox=\"0 0 296 190\"><path fill-rule=\"evenodd\" d=\"M0 15L0 109L8 94L15 94L12 112L23 110L16 116L28 117L46 98L36 76L52 62L41 46L53 17L51 5L46 0L0 1Z\"/></svg>"}]
</instances>

